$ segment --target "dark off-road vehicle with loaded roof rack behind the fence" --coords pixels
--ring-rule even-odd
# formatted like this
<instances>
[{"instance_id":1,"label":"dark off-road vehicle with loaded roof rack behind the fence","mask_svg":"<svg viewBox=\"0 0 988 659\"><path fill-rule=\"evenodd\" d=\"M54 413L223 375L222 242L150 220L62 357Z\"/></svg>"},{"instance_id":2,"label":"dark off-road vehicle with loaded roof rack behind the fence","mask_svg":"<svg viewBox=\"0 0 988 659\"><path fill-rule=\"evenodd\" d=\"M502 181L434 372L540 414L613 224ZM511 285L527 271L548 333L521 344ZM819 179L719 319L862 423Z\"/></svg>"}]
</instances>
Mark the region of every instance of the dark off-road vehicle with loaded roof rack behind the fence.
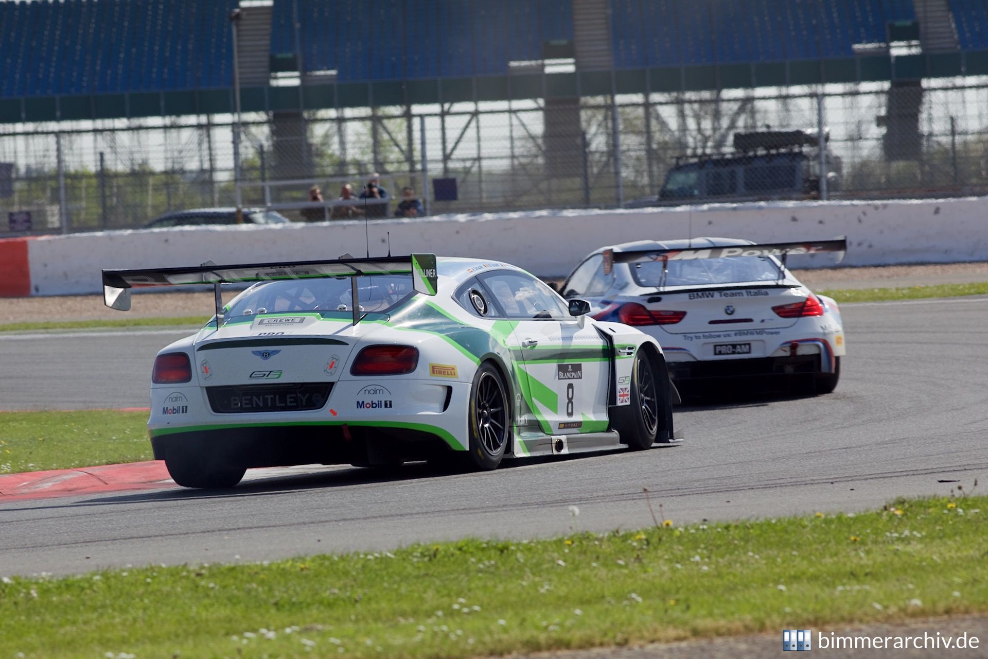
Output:
<instances>
[{"instance_id":1,"label":"dark off-road vehicle with loaded roof rack behind the fence","mask_svg":"<svg viewBox=\"0 0 988 659\"><path fill-rule=\"evenodd\" d=\"M815 130L736 132L733 152L677 157L658 199L638 200L626 206L814 199L820 192L819 148ZM839 186L840 169L840 159L827 153L830 192Z\"/></svg>"}]
</instances>

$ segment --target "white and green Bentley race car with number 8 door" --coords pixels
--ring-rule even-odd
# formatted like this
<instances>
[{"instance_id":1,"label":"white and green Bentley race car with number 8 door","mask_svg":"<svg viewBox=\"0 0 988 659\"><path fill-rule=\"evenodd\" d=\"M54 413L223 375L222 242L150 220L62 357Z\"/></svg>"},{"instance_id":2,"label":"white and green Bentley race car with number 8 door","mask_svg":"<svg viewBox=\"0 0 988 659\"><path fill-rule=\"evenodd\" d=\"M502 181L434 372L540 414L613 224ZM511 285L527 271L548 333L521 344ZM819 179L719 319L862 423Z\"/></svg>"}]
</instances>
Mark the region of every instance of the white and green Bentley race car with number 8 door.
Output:
<instances>
[{"instance_id":1,"label":"white and green Bentley race car with number 8 door","mask_svg":"<svg viewBox=\"0 0 988 659\"><path fill-rule=\"evenodd\" d=\"M256 282L227 305L223 283ZM248 467L456 462L678 441L658 343L529 273L410 257L104 270L130 288L212 285L216 314L151 377L157 459L188 487Z\"/></svg>"}]
</instances>

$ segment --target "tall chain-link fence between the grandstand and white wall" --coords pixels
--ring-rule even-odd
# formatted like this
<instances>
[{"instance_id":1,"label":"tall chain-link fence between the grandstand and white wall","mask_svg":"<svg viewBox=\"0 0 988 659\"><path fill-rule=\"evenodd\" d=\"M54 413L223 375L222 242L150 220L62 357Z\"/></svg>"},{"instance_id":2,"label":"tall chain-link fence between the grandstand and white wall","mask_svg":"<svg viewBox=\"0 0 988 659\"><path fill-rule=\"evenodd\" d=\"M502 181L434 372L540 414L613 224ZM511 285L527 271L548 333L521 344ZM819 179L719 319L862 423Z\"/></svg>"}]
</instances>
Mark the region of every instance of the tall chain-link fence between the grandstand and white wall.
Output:
<instances>
[{"instance_id":1,"label":"tall chain-link fence between the grandstand and white wall","mask_svg":"<svg viewBox=\"0 0 988 659\"><path fill-rule=\"evenodd\" d=\"M404 188L429 214L988 192L988 80L972 78L245 115L239 177L235 129L222 116L0 130L0 233L232 207L238 179L245 207L363 216L362 202L292 206L313 186L359 197L373 173L389 201L371 216L399 211Z\"/></svg>"}]
</instances>

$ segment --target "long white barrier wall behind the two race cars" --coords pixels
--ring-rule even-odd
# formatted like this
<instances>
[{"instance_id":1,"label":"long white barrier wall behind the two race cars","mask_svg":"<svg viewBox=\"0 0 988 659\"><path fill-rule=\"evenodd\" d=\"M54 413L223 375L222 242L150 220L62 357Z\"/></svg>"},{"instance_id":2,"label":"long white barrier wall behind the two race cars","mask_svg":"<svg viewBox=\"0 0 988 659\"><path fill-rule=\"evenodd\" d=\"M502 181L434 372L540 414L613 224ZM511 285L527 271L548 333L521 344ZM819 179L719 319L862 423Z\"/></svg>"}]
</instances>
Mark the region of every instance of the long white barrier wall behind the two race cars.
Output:
<instances>
[{"instance_id":1,"label":"long white barrier wall behind the two race cars","mask_svg":"<svg viewBox=\"0 0 988 659\"><path fill-rule=\"evenodd\" d=\"M759 242L846 235L842 265L988 260L984 198L897 202L767 203L546 210L371 221L371 256L434 252L513 263L542 277L567 275L602 245L694 236ZM154 268L264 261L334 259L367 253L363 221L287 226L228 226L106 231L29 242L36 295L102 291L102 268ZM830 255L793 257L790 267L828 267Z\"/></svg>"}]
</instances>

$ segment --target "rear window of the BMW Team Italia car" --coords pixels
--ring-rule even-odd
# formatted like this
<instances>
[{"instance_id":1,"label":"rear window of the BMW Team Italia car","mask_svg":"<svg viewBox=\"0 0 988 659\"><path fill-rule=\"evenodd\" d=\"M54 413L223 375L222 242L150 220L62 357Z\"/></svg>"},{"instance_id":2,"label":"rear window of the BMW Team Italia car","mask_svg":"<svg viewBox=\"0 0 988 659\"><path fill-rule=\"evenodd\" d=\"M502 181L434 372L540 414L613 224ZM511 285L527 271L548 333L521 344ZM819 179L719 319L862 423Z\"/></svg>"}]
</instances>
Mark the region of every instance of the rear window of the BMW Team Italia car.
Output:
<instances>
[{"instance_id":1,"label":"rear window of the BMW Team Italia car","mask_svg":"<svg viewBox=\"0 0 988 659\"><path fill-rule=\"evenodd\" d=\"M662 261L631 263L628 267L635 284L644 288L775 282L779 279L780 270L776 261L765 256L670 261L669 272L663 282Z\"/></svg>"}]
</instances>

